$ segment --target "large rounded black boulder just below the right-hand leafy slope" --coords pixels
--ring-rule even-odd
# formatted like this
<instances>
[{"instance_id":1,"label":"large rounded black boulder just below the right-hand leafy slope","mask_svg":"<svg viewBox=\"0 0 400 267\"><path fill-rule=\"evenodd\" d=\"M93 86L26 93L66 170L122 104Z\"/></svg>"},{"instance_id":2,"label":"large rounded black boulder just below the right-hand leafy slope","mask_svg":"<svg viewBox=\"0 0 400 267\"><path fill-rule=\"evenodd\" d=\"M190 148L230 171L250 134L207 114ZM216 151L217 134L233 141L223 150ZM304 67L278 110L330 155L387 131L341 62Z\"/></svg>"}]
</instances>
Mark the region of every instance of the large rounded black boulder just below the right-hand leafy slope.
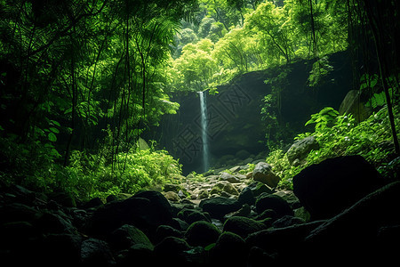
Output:
<instances>
[{"instance_id":1,"label":"large rounded black boulder just below the right-hand leafy slope","mask_svg":"<svg viewBox=\"0 0 400 267\"><path fill-rule=\"evenodd\" d=\"M361 156L329 158L293 177L293 192L313 220L339 214L381 185L378 172Z\"/></svg>"}]
</instances>

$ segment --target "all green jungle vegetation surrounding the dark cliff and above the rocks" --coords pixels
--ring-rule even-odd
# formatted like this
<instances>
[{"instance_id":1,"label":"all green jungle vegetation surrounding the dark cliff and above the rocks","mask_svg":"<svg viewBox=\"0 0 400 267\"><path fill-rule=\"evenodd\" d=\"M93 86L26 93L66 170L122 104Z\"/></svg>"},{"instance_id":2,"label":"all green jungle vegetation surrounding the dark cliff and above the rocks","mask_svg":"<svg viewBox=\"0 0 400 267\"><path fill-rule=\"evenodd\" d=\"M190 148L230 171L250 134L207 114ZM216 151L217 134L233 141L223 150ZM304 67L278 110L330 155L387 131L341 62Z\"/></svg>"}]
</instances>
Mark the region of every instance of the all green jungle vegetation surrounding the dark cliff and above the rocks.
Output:
<instances>
[{"instance_id":1,"label":"all green jungle vegetation surrounding the dark cliff and above the rocks","mask_svg":"<svg viewBox=\"0 0 400 267\"><path fill-rule=\"evenodd\" d=\"M326 55L347 49L354 89L375 113L359 124L331 109L313 116L314 133L298 138L314 135L321 149L301 166L267 128L267 160L287 187L324 158L383 164L399 153L398 13L396 1L367 0L0 1L2 181L79 198L179 182L179 160L140 139L179 109L171 93L216 93L237 75L280 66L260 109L272 127L284 66L313 60L312 90L332 69Z\"/></svg>"}]
</instances>

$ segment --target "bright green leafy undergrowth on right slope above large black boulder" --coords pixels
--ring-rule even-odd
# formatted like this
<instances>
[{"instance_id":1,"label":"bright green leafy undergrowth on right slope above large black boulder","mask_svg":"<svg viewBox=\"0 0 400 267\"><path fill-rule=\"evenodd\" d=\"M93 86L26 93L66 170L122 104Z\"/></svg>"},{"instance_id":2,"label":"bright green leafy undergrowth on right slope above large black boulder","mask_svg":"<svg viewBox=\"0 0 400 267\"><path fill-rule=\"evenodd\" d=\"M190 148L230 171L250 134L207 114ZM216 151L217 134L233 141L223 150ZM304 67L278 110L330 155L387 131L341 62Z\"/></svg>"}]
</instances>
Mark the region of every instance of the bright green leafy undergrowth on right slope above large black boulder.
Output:
<instances>
[{"instance_id":1,"label":"bright green leafy undergrowth on right slope above large black boulder","mask_svg":"<svg viewBox=\"0 0 400 267\"><path fill-rule=\"evenodd\" d=\"M399 111L396 106L396 131L400 130ZM283 150L274 150L268 155L267 162L282 178L280 186L284 188L292 188L292 177L300 170L326 158L361 155L375 166L380 166L388 162L388 156L394 153L386 107L359 124L352 115L339 115L332 108L324 108L312 115L308 124L315 124L314 132L298 134L295 140L315 136L320 149L312 150L304 165L291 166Z\"/></svg>"}]
</instances>

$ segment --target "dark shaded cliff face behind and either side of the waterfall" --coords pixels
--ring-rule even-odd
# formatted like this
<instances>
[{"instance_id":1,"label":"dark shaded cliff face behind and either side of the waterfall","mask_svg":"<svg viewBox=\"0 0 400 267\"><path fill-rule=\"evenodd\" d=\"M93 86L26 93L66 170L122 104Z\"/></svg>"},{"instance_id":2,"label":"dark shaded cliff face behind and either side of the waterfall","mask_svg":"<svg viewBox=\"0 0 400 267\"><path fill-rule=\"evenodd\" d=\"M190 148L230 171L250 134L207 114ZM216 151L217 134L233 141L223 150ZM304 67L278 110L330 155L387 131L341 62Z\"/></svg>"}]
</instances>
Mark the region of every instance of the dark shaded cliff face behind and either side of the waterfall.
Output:
<instances>
[{"instance_id":1,"label":"dark shaded cliff face behind and either side of the waterfall","mask_svg":"<svg viewBox=\"0 0 400 267\"><path fill-rule=\"evenodd\" d=\"M340 102L352 88L352 71L347 52L330 56L333 67L324 81L308 87L311 61L298 61L287 65L289 69L281 91L280 124L284 131L300 133L311 114L326 106L340 108ZM272 81L283 68L246 73L236 77L228 85L220 85L215 95L207 94L208 142L212 154L211 166L221 165L223 160L255 158L266 152L266 123L262 121L260 109L264 96L271 93ZM155 139L160 147L180 158L184 173L188 170L201 172L202 135L201 112L198 93L183 93L172 96L180 103L177 115L164 116ZM292 137L287 133L286 136ZM218 160L217 160L218 159ZM222 160L222 161L223 161Z\"/></svg>"}]
</instances>

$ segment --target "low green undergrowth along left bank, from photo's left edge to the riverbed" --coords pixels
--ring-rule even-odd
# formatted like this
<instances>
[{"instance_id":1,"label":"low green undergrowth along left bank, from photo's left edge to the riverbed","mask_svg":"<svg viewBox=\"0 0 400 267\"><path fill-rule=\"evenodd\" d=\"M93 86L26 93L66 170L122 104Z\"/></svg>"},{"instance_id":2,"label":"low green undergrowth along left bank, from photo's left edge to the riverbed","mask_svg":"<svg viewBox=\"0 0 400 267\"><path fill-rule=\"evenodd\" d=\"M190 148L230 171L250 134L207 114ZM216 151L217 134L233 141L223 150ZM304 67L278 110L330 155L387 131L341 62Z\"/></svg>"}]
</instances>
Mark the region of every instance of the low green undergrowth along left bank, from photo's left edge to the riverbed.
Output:
<instances>
[{"instance_id":1,"label":"low green undergrowth along left bank, from photo's left edge to the riverbed","mask_svg":"<svg viewBox=\"0 0 400 267\"><path fill-rule=\"evenodd\" d=\"M112 163L103 152L74 150L69 165L62 167L58 163L60 154L52 143L28 148L11 139L1 139L0 145L3 182L44 192L64 190L82 200L133 194L166 182L180 182L181 177L179 161L164 150L121 152Z\"/></svg>"}]
</instances>

